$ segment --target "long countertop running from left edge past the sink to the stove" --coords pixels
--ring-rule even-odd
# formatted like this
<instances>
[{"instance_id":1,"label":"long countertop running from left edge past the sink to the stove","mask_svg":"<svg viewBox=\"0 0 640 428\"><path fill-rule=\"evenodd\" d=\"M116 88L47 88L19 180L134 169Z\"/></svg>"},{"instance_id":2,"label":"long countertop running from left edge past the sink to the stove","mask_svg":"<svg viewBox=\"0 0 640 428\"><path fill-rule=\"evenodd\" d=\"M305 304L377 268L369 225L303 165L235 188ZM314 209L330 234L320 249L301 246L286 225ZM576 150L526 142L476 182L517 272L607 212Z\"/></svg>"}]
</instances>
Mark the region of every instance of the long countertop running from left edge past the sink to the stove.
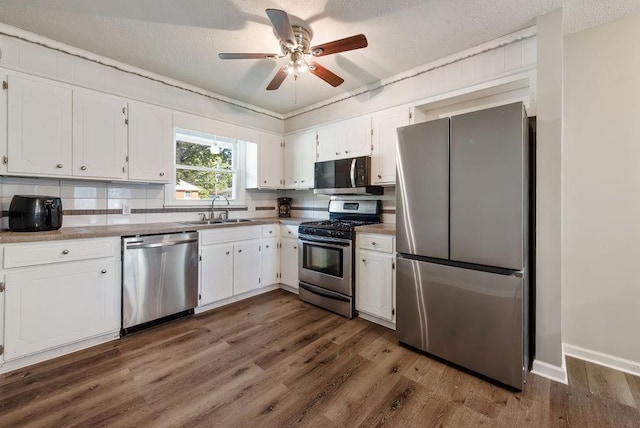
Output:
<instances>
[{"instance_id":1,"label":"long countertop running from left edge past the sink to the stove","mask_svg":"<svg viewBox=\"0 0 640 428\"><path fill-rule=\"evenodd\" d=\"M13 244L20 242L57 241L64 239L105 238L114 236L152 235L159 233L185 232L202 229L220 229L227 227L258 226L263 224L282 223L296 225L303 221L311 221L308 218L258 218L246 223L223 223L210 225L191 225L184 222L167 223L141 223L141 224L114 224L107 226L82 226L63 227L59 230L43 232L0 232L0 244Z\"/></svg>"}]
</instances>

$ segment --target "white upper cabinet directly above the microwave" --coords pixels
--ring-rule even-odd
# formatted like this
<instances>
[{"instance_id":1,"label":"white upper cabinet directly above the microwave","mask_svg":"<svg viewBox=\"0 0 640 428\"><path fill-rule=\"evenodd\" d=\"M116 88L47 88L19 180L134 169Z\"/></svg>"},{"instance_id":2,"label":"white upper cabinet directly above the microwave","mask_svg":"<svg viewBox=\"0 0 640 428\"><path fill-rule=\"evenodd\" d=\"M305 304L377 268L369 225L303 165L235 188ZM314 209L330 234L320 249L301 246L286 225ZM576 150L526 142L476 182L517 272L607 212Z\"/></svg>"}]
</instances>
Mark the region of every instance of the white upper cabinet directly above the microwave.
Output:
<instances>
[{"instance_id":1,"label":"white upper cabinet directly above the microwave","mask_svg":"<svg viewBox=\"0 0 640 428\"><path fill-rule=\"evenodd\" d=\"M371 117L348 119L318 128L318 161L371 154Z\"/></svg>"}]
</instances>

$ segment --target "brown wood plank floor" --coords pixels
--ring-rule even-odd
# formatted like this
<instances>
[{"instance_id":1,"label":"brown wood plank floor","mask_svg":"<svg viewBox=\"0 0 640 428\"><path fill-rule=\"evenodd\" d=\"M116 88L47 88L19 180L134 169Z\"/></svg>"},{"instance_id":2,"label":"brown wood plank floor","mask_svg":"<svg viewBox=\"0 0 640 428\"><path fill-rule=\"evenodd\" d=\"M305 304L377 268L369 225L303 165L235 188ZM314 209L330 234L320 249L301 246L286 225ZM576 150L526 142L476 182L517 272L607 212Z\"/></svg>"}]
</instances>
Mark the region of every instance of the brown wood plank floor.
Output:
<instances>
[{"instance_id":1,"label":"brown wood plank floor","mask_svg":"<svg viewBox=\"0 0 640 428\"><path fill-rule=\"evenodd\" d=\"M282 290L0 375L0 427L638 427L640 378L494 385Z\"/></svg>"}]
</instances>

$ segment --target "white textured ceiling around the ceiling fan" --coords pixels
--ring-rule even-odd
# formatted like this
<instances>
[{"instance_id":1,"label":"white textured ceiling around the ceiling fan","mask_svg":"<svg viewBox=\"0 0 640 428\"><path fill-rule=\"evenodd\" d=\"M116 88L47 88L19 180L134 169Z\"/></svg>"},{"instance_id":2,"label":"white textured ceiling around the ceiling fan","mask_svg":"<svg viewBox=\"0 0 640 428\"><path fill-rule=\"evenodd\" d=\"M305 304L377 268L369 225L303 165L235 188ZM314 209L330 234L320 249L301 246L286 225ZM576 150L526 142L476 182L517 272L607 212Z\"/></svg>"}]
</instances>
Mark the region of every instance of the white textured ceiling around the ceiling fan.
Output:
<instances>
[{"instance_id":1,"label":"white textured ceiling around the ceiling fan","mask_svg":"<svg viewBox=\"0 0 640 428\"><path fill-rule=\"evenodd\" d=\"M640 0L0 0L0 21L197 87L286 114L535 23L564 7L569 34L640 12ZM364 33L365 49L317 58L333 88L304 74L265 90L280 60L266 8L306 23L312 45Z\"/></svg>"}]
</instances>

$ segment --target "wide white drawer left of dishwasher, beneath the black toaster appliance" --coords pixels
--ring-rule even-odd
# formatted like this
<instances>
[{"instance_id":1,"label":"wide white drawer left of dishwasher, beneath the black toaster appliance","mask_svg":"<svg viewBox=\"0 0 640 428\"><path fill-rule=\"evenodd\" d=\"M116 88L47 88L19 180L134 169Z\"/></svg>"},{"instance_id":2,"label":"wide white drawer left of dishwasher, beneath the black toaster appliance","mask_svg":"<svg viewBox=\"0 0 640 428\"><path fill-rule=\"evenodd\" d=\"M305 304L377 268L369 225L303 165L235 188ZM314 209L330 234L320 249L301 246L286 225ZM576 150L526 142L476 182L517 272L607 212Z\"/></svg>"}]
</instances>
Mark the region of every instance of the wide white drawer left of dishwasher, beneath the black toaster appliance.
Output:
<instances>
[{"instance_id":1,"label":"wide white drawer left of dishwasher, beneath the black toaster appliance","mask_svg":"<svg viewBox=\"0 0 640 428\"><path fill-rule=\"evenodd\" d=\"M47 243L7 245L5 268L63 263L75 260L114 257L120 253L120 238L74 239Z\"/></svg>"}]
</instances>

